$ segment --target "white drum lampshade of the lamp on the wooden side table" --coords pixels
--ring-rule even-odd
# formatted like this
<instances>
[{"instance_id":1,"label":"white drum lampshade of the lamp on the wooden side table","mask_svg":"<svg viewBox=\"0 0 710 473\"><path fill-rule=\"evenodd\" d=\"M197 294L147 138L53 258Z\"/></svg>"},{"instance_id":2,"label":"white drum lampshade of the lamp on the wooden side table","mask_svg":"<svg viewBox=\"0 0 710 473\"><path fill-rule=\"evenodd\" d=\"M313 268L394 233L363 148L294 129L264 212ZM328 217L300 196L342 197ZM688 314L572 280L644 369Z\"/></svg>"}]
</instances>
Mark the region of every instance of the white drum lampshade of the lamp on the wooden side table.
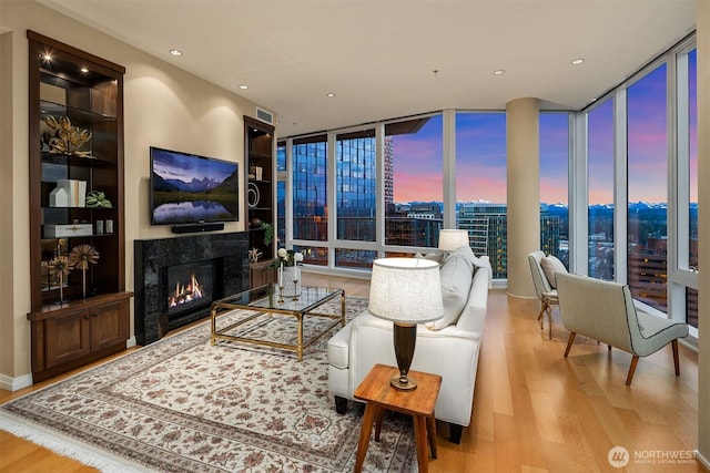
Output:
<instances>
[{"instance_id":1,"label":"white drum lampshade of the lamp on the wooden side table","mask_svg":"<svg viewBox=\"0 0 710 473\"><path fill-rule=\"evenodd\" d=\"M373 261L369 312L402 323L429 322L444 317L439 265L420 258Z\"/></svg>"}]
</instances>

